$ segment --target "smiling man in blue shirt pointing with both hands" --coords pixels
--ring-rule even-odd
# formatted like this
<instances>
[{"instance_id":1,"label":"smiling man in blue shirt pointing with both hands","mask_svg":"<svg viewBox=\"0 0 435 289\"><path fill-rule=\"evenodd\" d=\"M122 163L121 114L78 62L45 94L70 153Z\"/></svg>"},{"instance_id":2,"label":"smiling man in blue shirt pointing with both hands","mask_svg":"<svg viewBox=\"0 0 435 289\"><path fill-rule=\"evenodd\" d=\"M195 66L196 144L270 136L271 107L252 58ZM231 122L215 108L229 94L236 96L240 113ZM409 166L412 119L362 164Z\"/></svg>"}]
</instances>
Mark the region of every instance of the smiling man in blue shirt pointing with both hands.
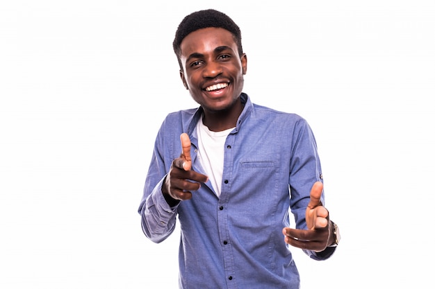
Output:
<instances>
[{"instance_id":1,"label":"smiling man in blue shirt pointing with both hands","mask_svg":"<svg viewBox=\"0 0 435 289\"><path fill-rule=\"evenodd\" d=\"M227 15L193 12L173 45L199 107L161 125L138 209L142 230L160 243L178 216L180 288L299 288L289 245L325 260L339 239L322 206L311 128L243 92L247 56Z\"/></svg>"}]
</instances>

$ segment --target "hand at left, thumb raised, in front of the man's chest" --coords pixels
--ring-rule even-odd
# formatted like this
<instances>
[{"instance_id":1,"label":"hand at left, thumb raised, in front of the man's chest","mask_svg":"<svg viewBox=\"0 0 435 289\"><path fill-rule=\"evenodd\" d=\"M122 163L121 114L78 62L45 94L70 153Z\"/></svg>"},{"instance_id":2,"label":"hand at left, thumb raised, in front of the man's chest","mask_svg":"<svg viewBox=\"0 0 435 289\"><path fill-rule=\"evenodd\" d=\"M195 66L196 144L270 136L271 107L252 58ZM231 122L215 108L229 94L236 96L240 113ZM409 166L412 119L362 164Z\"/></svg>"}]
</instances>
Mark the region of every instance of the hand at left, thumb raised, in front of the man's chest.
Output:
<instances>
[{"instance_id":1,"label":"hand at left, thumb raised, in front of the man's chest","mask_svg":"<svg viewBox=\"0 0 435 289\"><path fill-rule=\"evenodd\" d=\"M165 200L171 206L177 204L179 200L190 200L192 198L192 191L197 191L201 187L201 183L205 183L208 180L206 175L191 170L192 159L190 158L190 139L188 134L182 133L180 141L182 148L181 155L172 161L171 168L162 186Z\"/></svg>"}]
</instances>

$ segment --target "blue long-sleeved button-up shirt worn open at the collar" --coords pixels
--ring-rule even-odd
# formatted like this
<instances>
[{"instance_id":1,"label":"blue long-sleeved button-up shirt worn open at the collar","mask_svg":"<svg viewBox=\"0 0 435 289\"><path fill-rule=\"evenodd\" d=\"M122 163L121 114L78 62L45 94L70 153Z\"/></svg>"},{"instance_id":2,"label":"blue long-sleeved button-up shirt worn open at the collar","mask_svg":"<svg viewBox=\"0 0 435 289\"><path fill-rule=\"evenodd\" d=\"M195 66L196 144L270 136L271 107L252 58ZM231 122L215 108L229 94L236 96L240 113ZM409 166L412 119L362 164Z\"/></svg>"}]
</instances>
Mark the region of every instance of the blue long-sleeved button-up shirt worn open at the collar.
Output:
<instances>
[{"instance_id":1,"label":"blue long-sleeved button-up shirt worn open at the collar","mask_svg":"<svg viewBox=\"0 0 435 289\"><path fill-rule=\"evenodd\" d=\"M289 209L295 227L306 229L311 186L322 181L315 138L297 114L255 105L246 94L240 101L245 107L225 142L219 198L210 182L176 207L161 192L172 161L181 154L182 132L192 142L192 169L204 173L197 157L200 107L169 114L156 137L138 211L145 235L156 243L174 231L178 216L180 288L299 288L281 231L290 227ZM305 252L322 260L334 249Z\"/></svg>"}]
</instances>

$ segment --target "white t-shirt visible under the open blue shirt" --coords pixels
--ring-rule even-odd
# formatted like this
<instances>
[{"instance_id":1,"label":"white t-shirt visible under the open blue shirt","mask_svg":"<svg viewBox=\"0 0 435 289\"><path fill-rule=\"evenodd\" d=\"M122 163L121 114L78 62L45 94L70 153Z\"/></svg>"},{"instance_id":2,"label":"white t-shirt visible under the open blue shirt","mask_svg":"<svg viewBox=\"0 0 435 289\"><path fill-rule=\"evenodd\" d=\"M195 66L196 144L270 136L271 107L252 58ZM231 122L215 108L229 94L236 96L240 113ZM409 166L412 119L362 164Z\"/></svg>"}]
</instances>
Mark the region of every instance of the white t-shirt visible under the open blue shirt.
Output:
<instances>
[{"instance_id":1,"label":"white t-shirt visible under the open blue shirt","mask_svg":"<svg viewBox=\"0 0 435 289\"><path fill-rule=\"evenodd\" d=\"M204 125L202 119L197 124L199 161L218 197L220 196L222 172L224 171L224 144L228 134L233 129L212 132Z\"/></svg>"}]
</instances>

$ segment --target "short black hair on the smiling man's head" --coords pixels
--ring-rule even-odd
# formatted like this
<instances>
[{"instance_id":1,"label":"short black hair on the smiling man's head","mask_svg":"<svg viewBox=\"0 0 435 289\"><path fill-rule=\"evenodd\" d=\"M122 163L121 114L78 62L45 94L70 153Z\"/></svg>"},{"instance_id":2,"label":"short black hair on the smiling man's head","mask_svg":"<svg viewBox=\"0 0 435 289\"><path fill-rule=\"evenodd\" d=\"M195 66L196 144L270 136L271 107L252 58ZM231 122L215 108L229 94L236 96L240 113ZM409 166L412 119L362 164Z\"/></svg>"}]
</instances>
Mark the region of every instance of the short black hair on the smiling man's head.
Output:
<instances>
[{"instance_id":1,"label":"short black hair on the smiling man's head","mask_svg":"<svg viewBox=\"0 0 435 289\"><path fill-rule=\"evenodd\" d=\"M242 49L242 33L238 25L231 19L228 15L213 9L199 10L192 12L190 15L184 17L183 21L179 24L177 32L175 33L174 42L172 46L174 47L175 55L182 67L180 61L181 55L181 42L190 33L208 27L224 28L228 30L234 37L236 41L238 54L241 56L243 54Z\"/></svg>"}]
</instances>

